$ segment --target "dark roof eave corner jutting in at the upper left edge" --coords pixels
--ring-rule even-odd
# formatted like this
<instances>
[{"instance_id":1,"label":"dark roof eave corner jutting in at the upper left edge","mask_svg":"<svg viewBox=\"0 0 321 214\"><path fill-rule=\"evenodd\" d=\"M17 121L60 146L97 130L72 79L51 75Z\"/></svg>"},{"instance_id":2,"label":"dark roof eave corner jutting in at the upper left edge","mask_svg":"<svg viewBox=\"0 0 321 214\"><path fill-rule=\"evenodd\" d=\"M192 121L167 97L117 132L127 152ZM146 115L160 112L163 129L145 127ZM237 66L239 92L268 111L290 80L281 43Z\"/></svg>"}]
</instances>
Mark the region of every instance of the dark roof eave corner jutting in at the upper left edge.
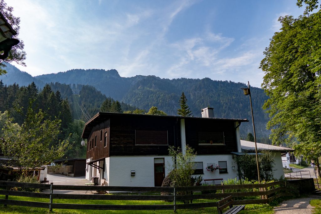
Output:
<instances>
[{"instance_id":1,"label":"dark roof eave corner jutting in at the upper left edge","mask_svg":"<svg viewBox=\"0 0 321 214\"><path fill-rule=\"evenodd\" d=\"M12 38L17 32L13 30L8 21L4 18L4 15L0 12L0 59L5 59L9 56L9 52L12 46L17 45L19 40Z\"/></svg>"}]
</instances>

